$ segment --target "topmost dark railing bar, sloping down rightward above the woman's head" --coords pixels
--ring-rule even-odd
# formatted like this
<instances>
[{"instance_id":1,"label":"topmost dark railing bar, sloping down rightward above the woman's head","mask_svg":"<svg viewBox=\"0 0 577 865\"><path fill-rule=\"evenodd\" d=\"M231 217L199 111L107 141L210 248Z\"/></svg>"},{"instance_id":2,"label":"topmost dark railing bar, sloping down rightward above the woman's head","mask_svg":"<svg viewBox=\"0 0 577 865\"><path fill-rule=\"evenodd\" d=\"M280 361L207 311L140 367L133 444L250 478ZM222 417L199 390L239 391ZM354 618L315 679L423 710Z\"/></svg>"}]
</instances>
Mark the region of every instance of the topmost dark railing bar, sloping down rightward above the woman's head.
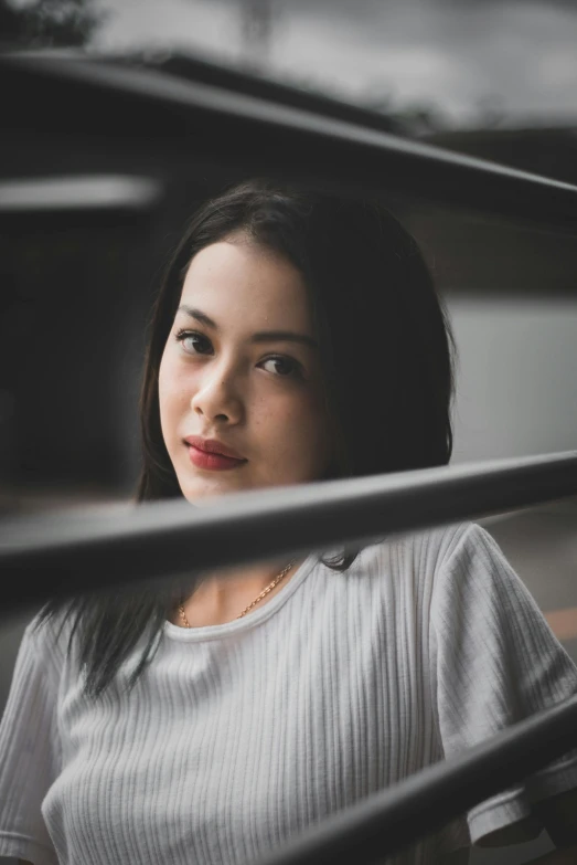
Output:
<instances>
[{"instance_id":1,"label":"topmost dark railing bar, sloping down rightward above the woman's head","mask_svg":"<svg viewBox=\"0 0 577 865\"><path fill-rule=\"evenodd\" d=\"M280 172L362 194L402 193L575 230L577 188L361 124L151 70L0 55L4 124L138 138L227 169ZM25 97L25 98L24 98ZM33 110L31 110L33 105ZM104 124L104 125L103 125ZM142 133L153 133L142 136ZM231 147L234 141L234 148ZM160 148L160 150L159 150ZM334 178L338 178L335 184Z\"/></svg>"}]
</instances>

